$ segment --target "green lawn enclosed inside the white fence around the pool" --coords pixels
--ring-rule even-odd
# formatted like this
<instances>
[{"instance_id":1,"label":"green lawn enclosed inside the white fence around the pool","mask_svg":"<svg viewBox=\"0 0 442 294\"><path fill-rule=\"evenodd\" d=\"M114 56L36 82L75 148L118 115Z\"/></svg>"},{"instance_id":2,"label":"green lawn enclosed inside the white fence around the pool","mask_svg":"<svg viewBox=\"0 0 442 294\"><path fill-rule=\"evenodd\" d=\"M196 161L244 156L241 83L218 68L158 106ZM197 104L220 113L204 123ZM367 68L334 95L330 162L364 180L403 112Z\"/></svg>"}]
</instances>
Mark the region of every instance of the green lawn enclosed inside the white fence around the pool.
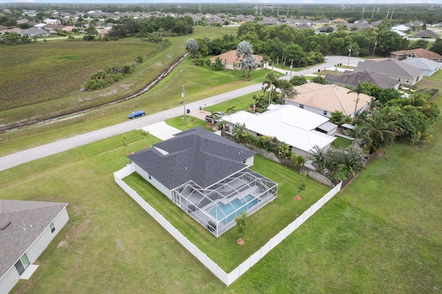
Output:
<instances>
[{"instance_id":1,"label":"green lawn enclosed inside the white fence around the pool","mask_svg":"<svg viewBox=\"0 0 442 294\"><path fill-rule=\"evenodd\" d=\"M213 236L139 175L132 174L124 181L213 262L229 273L264 246L271 237L294 222L296 215L301 215L329 190L327 186L306 179L306 190L301 193L302 200L298 202L294 199L300 179L298 173L258 156L251 169L278 183L278 197L249 217L244 246L236 244L238 233L235 228L218 238Z\"/></svg>"}]
</instances>

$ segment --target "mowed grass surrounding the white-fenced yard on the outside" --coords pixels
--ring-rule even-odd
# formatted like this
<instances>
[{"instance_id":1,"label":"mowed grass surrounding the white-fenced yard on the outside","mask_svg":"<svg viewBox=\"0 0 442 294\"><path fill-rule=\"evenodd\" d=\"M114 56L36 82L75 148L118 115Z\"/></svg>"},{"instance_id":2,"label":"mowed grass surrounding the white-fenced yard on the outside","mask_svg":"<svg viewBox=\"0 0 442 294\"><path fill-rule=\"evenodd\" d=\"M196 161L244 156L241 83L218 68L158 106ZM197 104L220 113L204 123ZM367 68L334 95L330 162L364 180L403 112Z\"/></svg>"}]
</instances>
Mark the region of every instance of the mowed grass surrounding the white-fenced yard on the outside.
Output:
<instances>
[{"instance_id":1,"label":"mowed grass surrounding the white-fenced yard on the outside","mask_svg":"<svg viewBox=\"0 0 442 294\"><path fill-rule=\"evenodd\" d=\"M442 105L441 96L436 103ZM70 213L66 227L39 257L39 269L13 292L437 293L442 286L441 126L439 121L427 148L394 144L229 287L113 182L112 173L128 163L125 153L155 143L155 137L144 142L133 131L126 134L127 148L117 136L5 170L0 173L3 198L68 202ZM291 173L279 177L289 179ZM293 179L296 186L296 175ZM258 239L253 234L246 244Z\"/></svg>"}]
</instances>

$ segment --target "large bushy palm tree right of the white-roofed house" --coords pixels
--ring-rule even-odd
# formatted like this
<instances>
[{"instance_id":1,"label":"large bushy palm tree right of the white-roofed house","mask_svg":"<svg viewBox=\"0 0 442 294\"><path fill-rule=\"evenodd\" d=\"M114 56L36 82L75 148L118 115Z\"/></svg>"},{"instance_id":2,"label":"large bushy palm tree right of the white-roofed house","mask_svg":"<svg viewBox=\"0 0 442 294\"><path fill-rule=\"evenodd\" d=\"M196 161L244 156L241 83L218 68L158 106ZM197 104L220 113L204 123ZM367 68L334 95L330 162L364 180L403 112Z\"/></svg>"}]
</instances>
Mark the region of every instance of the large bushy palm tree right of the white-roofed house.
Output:
<instances>
[{"instance_id":1,"label":"large bushy palm tree right of the white-roofed house","mask_svg":"<svg viewBox=\"0 0 442 294\"><path fill-rule=\"evenodd\" d=\"M361 132L365 133L363 144L376 155L382 155L401 131L399 124L396 113L390 108L372 112L372 115L361 121Z\"/></svg>"}]
</instances>

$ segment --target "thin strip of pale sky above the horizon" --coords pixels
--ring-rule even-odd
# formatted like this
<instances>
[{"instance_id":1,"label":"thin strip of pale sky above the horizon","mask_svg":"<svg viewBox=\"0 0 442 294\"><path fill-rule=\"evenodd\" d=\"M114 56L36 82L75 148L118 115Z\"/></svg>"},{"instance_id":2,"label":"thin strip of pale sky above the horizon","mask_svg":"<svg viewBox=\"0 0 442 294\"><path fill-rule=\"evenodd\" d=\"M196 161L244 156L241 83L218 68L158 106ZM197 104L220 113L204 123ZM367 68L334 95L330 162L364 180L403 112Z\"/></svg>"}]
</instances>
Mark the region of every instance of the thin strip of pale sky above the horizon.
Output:
<instances>
[{"instance_id":1,"label":"thin strip of pale sky above the horizon","mask_svg":"<svg viewBox=\"0 0 442 294\"><path fill-rule=\"evenodd\" d=\"M35 3L271 3L282 5L296 5L298 3L329 3L329 4L405 4L405 3L433 3L441 4L442 0L0 0L0 3L35 2Z\"/></svg>"}]
</instances>

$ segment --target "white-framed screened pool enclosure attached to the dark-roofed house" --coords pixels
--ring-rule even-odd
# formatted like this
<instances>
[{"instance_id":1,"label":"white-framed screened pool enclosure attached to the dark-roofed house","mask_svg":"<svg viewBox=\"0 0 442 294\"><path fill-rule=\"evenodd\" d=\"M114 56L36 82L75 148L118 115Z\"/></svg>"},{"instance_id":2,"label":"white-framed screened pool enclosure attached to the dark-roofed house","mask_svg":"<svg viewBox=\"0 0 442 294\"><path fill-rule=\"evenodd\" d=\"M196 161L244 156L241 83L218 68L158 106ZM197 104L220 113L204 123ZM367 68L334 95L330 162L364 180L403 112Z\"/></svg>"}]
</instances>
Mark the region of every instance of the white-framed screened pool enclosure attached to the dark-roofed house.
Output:
<instances>
[{"instance_id":1,"label":"white-framed screened pool enclosure attached to the dark-roofed house","mask_svg":"<svg viewBox=\"0 0 442 294\"><path fill-rule=\"evenodd\" d=\"M278 184L246 168L207 188L194 182L172 191L173 202L213 235L235 226L235 217L251 215L276 198Z\"/></svg>"}]
</instances>

